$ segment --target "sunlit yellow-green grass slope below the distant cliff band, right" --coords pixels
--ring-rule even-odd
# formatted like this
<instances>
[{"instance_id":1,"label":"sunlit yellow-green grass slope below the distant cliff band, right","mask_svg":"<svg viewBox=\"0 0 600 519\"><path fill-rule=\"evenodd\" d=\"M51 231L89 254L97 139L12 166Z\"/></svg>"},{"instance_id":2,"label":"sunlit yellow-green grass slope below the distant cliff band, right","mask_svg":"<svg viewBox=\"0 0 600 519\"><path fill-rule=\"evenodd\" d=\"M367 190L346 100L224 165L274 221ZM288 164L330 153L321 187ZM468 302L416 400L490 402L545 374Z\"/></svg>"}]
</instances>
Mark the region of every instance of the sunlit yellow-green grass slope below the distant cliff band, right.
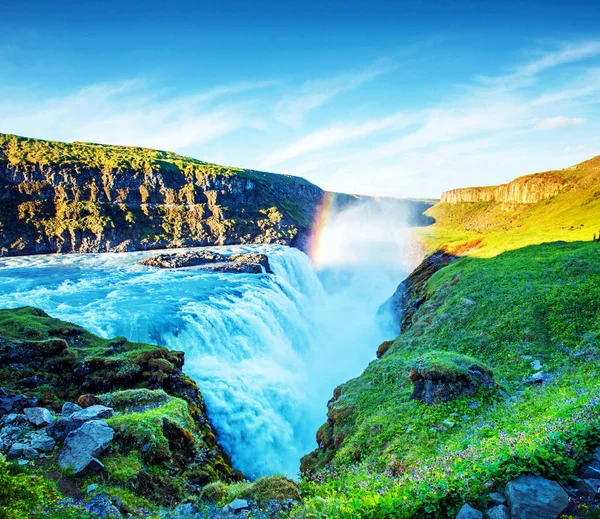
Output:
<instances>
[{"instance_id":1,"label":"sunlit yellow-green grass slope below the distant cliff band, right","mask_svg":"<svg viewBox=\"0 0 600 519\"><path fill-rule=\"evenodd\" d=\"M426 213L436 223L419 237L428 251L446 246L478 257L547 241L591 240L600 232L600 157L529 178L544 176L563 184L560 194L536 204L439 202Z\"/></svg>"}]
</instances>

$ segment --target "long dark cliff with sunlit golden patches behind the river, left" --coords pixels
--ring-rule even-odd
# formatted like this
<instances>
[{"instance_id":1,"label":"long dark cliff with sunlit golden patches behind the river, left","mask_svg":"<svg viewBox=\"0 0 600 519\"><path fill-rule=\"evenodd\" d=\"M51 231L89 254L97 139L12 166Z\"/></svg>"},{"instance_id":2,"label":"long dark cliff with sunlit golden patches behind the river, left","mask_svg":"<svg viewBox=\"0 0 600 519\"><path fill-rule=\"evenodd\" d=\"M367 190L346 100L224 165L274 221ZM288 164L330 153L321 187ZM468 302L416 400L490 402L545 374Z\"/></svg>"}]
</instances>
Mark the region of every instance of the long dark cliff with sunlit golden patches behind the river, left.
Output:
<instances>
[{"instance_id":1,"label":"long dark cliff with sunlit golden patches behind the river, left","mask_svg":"<svg viewBox=\"0 0 600 519\"><path fill-rule=\"evenodd\" d=\"M171 152L0 134L0 254L242 243L303 248L326 192ZM341 205L364 200L340 195ZM405 204L415 223L431 204Z\"/></svg>"}]
</instances>

